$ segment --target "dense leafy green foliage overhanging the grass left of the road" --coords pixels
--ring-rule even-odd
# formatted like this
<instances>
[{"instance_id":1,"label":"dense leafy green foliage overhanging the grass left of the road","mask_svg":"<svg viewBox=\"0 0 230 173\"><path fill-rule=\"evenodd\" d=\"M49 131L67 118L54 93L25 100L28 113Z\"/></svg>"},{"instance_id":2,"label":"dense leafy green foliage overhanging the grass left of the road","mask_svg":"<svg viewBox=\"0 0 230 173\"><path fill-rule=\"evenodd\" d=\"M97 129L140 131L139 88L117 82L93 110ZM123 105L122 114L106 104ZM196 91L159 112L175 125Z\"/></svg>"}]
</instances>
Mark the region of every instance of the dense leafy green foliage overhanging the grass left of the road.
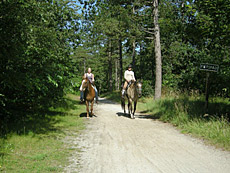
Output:
<instances>
[{"instance_id":1,"label":"dense leafy green foliage overhanging the grass left of the road","mask_svg":"<svg viewBox=\"0 0 230 173\"><path fill-rule=\"evenodd\" d=\"M25 112L47 108L64 95L78 29L69 3L0 2L1 122L20 121Z\"/></svg>"}]
</instances>

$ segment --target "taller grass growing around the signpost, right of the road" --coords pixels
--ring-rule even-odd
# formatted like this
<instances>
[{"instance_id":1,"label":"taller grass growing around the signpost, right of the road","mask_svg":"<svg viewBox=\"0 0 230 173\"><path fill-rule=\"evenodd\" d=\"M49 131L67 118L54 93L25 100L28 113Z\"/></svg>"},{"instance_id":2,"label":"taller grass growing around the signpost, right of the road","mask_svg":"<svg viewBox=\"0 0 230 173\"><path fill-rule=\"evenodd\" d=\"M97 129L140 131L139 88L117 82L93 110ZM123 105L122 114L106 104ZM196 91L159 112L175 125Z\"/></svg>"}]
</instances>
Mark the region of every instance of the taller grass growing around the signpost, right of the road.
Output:
<instances>
[{"instance_id":1,"label":"taller grass growing around the signpost, right of the road","mask_svg":"<svg viewBox=\"0 0 230 173\"><path fill-rule=\"evenodd\" d=\"M103 96L120 102L118 92ZM143 97L138 101L137 110L149 115L149 118L173 124L182 133L191 134L204 139L207 144L230 151L229 99L210 98L208 114L205 114L204 100L203 96L178 93L163 96L158 101L154 101L153 97Z\"/></svg>"}]
</instances>

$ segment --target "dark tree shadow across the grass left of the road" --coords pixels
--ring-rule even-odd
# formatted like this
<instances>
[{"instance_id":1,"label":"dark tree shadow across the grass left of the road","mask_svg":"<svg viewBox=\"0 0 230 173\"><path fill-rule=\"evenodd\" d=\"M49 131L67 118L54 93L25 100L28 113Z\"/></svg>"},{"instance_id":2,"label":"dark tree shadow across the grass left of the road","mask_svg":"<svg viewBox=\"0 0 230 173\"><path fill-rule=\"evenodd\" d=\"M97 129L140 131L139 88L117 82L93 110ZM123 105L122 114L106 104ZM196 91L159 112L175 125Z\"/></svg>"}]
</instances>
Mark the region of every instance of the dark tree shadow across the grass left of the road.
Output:
<instances>
[{"instance_id":1,"label":"dark tree shadow across the grass left of the road","mask_svg":"<svg viewBox=\"0 0 230 173\"><path fill-rule=\"evenodd\" d=\"M1 129L1 138L7 138L7 134L17 135L49 134L50 132L64 133L57 124L61 122L57 116L76 116L69 113L71 109L76 109L80 101L65 98L56 103L55 107L36 109L29 111L14 111L14 116L4 122Z\"/></svg>"}]
</instances>

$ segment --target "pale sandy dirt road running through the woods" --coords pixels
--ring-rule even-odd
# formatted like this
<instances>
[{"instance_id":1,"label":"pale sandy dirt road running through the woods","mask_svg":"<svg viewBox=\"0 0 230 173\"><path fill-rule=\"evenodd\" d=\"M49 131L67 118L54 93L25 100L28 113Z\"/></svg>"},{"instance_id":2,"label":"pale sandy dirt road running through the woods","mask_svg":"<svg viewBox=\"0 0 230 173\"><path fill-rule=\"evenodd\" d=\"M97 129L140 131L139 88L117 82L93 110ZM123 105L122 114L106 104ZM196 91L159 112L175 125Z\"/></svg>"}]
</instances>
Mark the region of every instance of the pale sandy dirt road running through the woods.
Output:
<instances>
[{"instance_id":1,"label":"pale sandy dirt road running through the woods","mask_svg":"<svg viewBox=\"0 0 230 173\"><path fill-rule=\"evenodd\" d=\"M122 114L119 104L101 99L87 129L71 142L65 172L82 173L230 173L230 152L206 146L169 124L137 113ZM76 159L78 158L78 159Z\"/></svg>"}]
</instances>

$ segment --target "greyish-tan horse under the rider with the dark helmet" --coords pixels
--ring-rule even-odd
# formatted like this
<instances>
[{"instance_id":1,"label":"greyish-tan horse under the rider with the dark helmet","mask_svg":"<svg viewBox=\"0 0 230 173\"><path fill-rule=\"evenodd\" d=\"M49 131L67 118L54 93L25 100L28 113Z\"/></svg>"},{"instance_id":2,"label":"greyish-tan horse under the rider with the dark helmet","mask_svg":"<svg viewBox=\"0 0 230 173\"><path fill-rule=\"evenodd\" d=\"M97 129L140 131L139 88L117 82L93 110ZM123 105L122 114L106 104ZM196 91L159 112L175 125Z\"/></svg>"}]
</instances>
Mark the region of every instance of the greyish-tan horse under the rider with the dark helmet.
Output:
<instances>
[{"instance_id":1,"label":"greyish-tan horse under the rider with the dark helmet","mask_svg":"<svg viewBox=\"0 0 230 173\"><path fill-rule=\"evenodd\" d=\"M131 81L131 84L129 85L129 87L126 90L125 96L128 99L128 110L129 110L129 115L132 119L135 118L134 114L136 111L137 100L139 97L141 97L141 90L142 90L142 84L141 84L141 82L137 82L137 81ZM132 106L132 102L134 102L134 109ZM125 112L125 98L123 98L123 97L121 97L121 107L124 110L124 114L126 114L126 112Z\"/></svg>"}]
</instances>

